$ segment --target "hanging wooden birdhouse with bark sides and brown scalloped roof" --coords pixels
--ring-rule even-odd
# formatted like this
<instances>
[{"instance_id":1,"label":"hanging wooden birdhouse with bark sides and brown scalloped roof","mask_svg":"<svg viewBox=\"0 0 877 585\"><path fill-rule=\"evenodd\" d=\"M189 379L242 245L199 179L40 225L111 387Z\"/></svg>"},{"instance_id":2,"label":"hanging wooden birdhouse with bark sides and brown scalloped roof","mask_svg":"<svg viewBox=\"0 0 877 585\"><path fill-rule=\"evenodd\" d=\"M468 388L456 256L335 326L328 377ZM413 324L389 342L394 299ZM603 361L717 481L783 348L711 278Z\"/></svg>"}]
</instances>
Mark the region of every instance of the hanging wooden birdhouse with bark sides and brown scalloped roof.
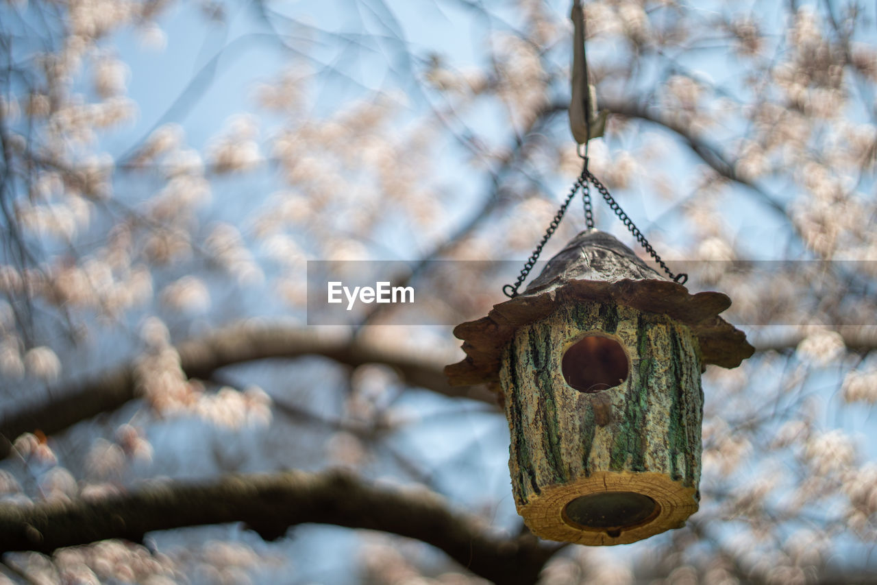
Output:
<instances>
[{"instance_id":1,"label":"hanging wooden birdhouse with bark sides and brown scalloped roof","mask_svg":"<svg viewBox=\"0 0 877 585\"><path fill-rule=\"evenodd\" d=\"M512 491L533 533L621 545L697 511L701 372L753 352L718 316L730 306L590 229L524 293L454 329L467 358L446 375L502 394Z\"/></svg>"}]
</instances>

